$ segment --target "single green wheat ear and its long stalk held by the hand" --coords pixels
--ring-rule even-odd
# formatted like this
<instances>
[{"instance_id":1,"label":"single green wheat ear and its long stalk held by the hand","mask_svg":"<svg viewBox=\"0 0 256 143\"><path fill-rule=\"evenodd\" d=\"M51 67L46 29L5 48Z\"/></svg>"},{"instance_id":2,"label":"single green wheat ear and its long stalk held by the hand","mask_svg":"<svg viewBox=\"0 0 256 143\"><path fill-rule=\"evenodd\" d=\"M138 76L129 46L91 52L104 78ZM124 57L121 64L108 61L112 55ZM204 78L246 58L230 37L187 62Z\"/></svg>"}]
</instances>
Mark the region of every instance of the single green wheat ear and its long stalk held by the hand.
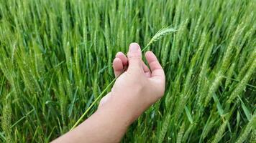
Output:
<instances>
[{"instance_id":1,"label":"single green wheat ear and its long stalk held by the hand","mask_svg":"<svg viewBox=\"0 0 256 143\"><path fill-rule=\"evenodd\" d=\"M168 34L171 34L175 31L178 31L176 30L175 28L171 27L171 26L167 26L163 29L160 29L159 31L157 31L157 33L152 37L152 39L150 39L150 42L147 44L147 46L145 46L142 51L144 51L145 49L147 49L153 42L155 41L158 41L159 39L163 38L164 36L168 35ZM120 74L121 75L121 74ZM119 76L120 76L119 75ZM118 77L119 77L118 76ZM86 112L83 112L82 116L78 119L78 121L76 122L76 124L73 125L73 127L70 129L70 131L72 129L74 129L80 122L81 120L83 119L83 117L86 116L86 114L89 112L89 110L93 107L94 104L96 104L97 101L99 101L99 99L101 99L101 97L103 96L103 94L106 92L107 89L109 89L109 87L111 86L111 84L114 84L114 82L116 81L116 79L118 78L114 78L110 84L108 86L106 86L106 88L101 92L101 94L99 94L99 97L97 97L93 103L90 105L90 107L88 107L88 109L86 109Z\"/></svg>"}]
</instances>

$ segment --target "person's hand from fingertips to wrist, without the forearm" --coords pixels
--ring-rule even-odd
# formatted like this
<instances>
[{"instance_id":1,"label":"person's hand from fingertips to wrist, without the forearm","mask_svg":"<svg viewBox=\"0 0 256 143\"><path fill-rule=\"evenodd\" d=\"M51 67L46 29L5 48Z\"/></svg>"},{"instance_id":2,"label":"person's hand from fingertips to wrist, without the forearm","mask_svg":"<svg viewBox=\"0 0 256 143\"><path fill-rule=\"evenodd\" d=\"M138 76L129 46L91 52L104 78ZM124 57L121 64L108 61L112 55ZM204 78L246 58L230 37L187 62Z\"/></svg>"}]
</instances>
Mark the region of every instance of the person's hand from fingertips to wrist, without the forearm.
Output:
<instances>
[{"instance_id":1,"label":"person's hand from fingertips to wrist, without the forearm","mask_svg":"<svg viewBox=\"0 0 256 143\"><path fill-rule=\"evenodd\" d=\"M113 68L115 76L119 77L111 92L101 99L99 109L105 106L124 109L133 122L150 105L163 97L165 91L163 68L152 51L147 51L145 57L150 69L142 61L142 52L137 43L130 44L127 56L122 52L116 54ZM127 66L127 71L124 71Z\"/></svg>"}]
</instances>

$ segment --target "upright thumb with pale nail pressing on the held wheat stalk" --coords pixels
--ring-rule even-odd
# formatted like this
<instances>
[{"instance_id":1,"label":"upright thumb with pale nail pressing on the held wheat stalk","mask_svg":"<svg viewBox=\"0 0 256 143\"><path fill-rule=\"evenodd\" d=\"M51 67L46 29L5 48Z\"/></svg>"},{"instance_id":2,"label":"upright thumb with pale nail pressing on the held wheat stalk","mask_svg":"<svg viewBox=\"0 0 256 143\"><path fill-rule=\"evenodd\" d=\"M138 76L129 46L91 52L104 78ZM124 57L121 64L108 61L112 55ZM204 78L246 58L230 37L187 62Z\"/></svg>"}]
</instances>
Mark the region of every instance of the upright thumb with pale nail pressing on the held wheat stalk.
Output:
<instances>
[{"instance_id":1,"label":"upright thumb with pale nail pressing on the held wheat stalk","mask_svg":"<svg viewBox=\"0 0 256 143\"><path fill-rule=\"evenodd\" d=\"M142 67L142 51L139 44L132 43L129 45L127 57L129 62L128 69Z\"/></svg>"}]
</instances>

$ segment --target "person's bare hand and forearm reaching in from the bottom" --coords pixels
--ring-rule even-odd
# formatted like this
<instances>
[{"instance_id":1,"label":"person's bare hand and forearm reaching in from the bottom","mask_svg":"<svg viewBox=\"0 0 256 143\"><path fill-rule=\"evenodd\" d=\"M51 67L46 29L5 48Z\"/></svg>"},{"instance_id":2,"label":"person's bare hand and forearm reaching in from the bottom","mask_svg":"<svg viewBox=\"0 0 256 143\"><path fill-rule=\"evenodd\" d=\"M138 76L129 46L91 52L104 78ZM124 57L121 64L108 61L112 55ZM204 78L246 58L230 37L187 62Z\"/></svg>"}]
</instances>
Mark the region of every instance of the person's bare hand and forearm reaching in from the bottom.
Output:
<instances>
[{"instance_id":1,"label":"person's bare hand and forearm reaching in from the bottom","mask_svg":"<svg viewBox=\"0 0 256 143\"><path fill-rule=\"evenodd\" d=\"M127 56L118 52L113 68L115 76L121 75L111 92L101 99L91 117L53 142L120 142L129 125L165 92L162 66L152 51L147 51L145 57L150 68L142 61L137 43L130 44Z\"/></svg>"}]
</instances>

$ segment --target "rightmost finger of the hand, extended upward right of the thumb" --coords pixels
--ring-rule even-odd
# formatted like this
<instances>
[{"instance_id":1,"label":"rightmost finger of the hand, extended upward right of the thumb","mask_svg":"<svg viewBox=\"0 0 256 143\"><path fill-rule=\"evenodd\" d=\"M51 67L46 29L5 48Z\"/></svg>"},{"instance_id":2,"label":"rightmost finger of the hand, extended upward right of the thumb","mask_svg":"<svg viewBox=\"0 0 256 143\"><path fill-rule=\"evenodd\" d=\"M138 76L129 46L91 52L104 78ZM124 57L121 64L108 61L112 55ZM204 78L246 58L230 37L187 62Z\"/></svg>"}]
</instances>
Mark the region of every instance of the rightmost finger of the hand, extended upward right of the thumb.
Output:
<instances>
[{"instance_id":1,"label":"rightmost finger of the hand, extended upward right of the thumb","mask_svg":"<svg viewBox=\"0 0 256 143\"><path fill-rule=\"evenodd\" d=\"M147 63L150 65L151 77L165 79L165 72L155 54L152 51L147 51L146 54Z\"/></svg>"}]
</instances>

